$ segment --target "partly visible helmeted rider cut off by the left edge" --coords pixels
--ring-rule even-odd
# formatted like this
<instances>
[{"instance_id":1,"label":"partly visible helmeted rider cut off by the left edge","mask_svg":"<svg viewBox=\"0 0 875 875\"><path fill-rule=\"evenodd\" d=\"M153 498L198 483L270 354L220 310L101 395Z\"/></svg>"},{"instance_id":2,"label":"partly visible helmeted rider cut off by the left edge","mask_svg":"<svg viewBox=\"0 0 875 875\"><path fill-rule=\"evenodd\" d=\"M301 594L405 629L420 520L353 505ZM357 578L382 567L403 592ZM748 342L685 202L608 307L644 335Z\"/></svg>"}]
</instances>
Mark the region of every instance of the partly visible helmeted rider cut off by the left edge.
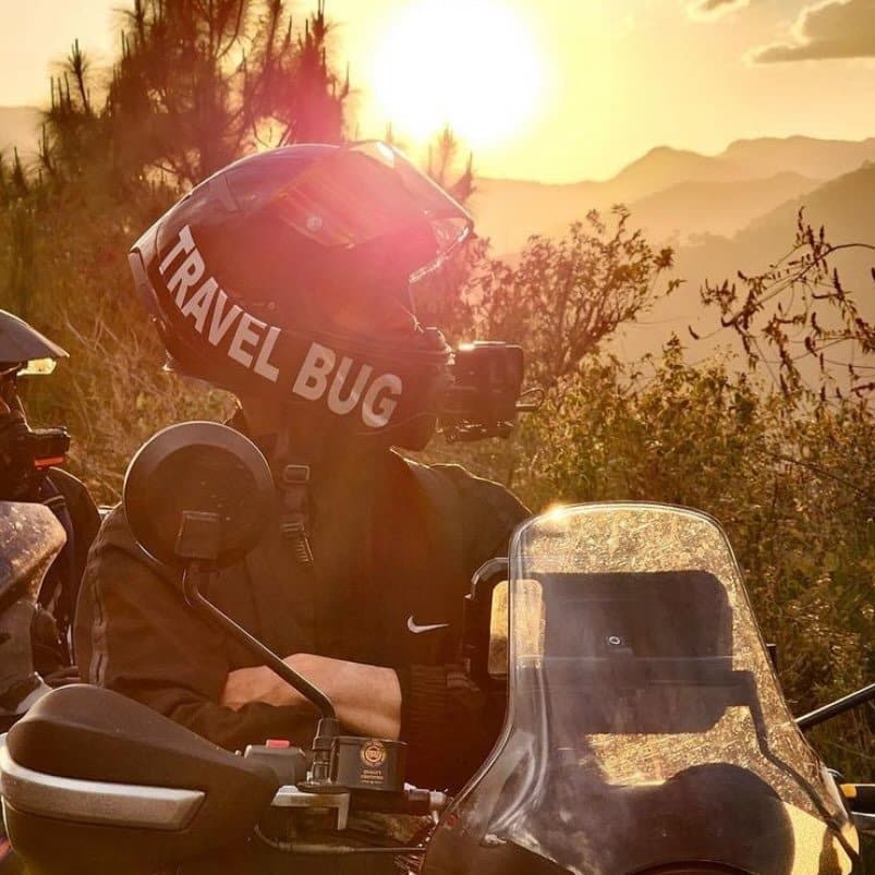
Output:
<instances>
[{"instance_id":1,"label":"partly visible helmeted rider cut off by the left edge","mask_svg":"<svg viewBox=\"0 0 875 875\"><path fill-rule=\"evenodd\" d=\"M88 548L100 518L88 490L57 467L69 447L63 429L34 432L19 396L19 380L51 373L66 352L23 319L0 311L0 501L47 505L66 534L39 594L34 656L37 670L52 672L72 661L73 611Z\"/></svg>"}]
</instances>

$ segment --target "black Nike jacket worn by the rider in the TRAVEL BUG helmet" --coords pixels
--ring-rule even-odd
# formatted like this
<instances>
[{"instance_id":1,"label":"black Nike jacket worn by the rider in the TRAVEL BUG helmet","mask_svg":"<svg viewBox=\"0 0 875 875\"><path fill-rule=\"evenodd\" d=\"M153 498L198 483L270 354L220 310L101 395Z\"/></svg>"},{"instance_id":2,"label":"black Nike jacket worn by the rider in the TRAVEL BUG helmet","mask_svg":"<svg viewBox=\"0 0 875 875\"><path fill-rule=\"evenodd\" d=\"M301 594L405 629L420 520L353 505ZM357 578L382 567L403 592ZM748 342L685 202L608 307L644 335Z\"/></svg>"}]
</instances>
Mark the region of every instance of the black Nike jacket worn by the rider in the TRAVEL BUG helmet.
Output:
<instances>
[{"instance_id":1,"label":"black Nike jacket worn by the rider in the TRAVEL BUG helmet","mask_svg":"<svg viewBox=\"0 0 875 875\"><path fill-rule=\"evenodd\" d=\"M314 478L315 479L315 478ZM312 502L314 570L293 559L277 524L208 595L280 656L315 653L398 671L408 777L453 787L488 753L501 714L459 671L463 596L472 573L507 554L525 508L458 465L386 452L366 476L335 472ZM409 629L448 623L415 634ZM195 616L172 573L137 547L122 508L88 559L76 615L84 680L144 702L234 750L266 738L308 745L309 707L219 704L228 673L255 660Z\"/></svg>"}]
</instances>

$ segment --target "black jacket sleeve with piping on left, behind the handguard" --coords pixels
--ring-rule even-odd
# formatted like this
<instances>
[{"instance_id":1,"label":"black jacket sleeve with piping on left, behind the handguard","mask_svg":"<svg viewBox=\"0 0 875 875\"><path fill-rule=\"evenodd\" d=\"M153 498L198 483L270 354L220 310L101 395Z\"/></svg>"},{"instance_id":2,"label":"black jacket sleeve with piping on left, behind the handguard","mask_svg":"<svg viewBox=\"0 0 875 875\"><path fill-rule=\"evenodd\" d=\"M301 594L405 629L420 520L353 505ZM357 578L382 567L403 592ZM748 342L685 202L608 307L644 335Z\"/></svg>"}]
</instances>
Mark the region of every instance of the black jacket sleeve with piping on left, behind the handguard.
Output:
<instances>
[{"instance_id":1,"label":"black jacket sleeve with piping on left, behind the handguard","mask_svg":"<svg viewBox=\"0 0 875 875\"><path fill-rule=\"evenodd\" d=\"M267 738L308 745L309 706L219 704L231 665L222 633L185 605L179 583L142 552L117 508L88 557L76 611L83 680L142 702L228 750Z\"/></svg>"}]
</instances>

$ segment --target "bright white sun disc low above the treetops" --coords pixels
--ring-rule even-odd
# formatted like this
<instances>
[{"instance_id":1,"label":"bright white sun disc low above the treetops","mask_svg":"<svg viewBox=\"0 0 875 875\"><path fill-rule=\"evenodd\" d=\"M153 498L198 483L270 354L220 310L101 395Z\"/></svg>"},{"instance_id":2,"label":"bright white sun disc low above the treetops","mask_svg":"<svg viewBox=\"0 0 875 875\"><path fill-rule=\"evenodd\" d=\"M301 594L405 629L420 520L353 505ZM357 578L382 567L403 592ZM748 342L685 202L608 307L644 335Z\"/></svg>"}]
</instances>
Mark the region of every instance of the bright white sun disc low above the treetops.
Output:
<instances>
[{"instance_id":1,"label":"bright white sun disc low above the treetops","mask_svg":"<svg viewBox=\"0 0 875 875\"><path fill-rule=\"evenodd\" d=\"M372 56L380 114L420 142L449 124L476 148L497 145L536 111L544 63L525 21L495 0L413 0Z\"/></svg>"}]
</instances>

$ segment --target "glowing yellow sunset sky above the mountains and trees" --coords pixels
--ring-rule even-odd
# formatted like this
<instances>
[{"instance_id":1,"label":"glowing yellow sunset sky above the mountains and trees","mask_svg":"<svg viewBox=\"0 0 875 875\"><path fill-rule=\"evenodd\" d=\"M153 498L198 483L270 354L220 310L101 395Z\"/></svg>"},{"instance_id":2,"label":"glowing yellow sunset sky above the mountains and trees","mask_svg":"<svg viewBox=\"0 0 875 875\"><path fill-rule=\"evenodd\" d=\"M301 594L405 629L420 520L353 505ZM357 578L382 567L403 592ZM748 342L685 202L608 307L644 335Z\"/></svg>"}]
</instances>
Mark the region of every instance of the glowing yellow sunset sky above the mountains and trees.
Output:
<instances>
[{"instance_id":1,"label":"glowing yellow sunset sky above the mountains and trees","mask_svg":"<svg viewBox=\"0 0 875 875\"><path fill-rule=\"evenodd\" d=\"M0 106L39 105L124 0L0 0ZM300 17L313 4L296 2ZM483 175L603 179L657 145L875 135L875 0L328 0L358 133L449 121Z\"/></svg>"}]
</instances>

